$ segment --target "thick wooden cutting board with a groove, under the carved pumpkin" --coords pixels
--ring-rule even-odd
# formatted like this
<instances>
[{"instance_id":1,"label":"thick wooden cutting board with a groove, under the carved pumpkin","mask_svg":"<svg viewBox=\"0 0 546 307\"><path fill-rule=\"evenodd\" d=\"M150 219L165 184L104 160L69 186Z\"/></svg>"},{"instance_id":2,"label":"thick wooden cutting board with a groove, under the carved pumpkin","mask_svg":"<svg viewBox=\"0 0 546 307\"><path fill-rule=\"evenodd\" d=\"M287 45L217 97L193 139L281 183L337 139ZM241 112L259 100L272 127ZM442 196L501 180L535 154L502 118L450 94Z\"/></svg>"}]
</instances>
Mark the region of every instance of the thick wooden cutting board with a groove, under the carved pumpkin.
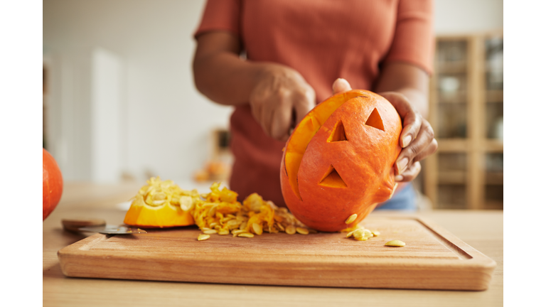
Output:
<instances>
[{"instance_id":1,"label":"thick wooden cutting board with a groove, under the carved pumpkin","mask_svg":"<svg viewBox=\"0 0 546 307\"><path fill-rule=\"evenodd\" d=\"M211 235L197 227L92 235L58 251L63 274L103 279L389 289L486 290L496 262L420 217L370 216L345 233ZM400 239L405 247L385 247Z\"/></svg>"}]
</instances>

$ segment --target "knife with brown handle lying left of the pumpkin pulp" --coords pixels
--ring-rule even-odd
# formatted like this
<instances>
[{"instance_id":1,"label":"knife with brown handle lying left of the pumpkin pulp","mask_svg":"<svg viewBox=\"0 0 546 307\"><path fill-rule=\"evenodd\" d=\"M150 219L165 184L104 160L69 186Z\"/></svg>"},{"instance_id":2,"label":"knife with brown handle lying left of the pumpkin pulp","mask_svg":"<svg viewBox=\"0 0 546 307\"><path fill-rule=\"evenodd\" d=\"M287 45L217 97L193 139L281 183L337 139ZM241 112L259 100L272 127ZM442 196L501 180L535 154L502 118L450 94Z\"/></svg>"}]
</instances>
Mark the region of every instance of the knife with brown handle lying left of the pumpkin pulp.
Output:
<instances>
[{"instance_id":1,"label":"knife with brown handle lying left of the pumpkin pulp","mask_svg":"<svg viewBox=\"0 0 546 307\"><path fill-rule=\"evenodd\" d=\"M147 233L137 227L125 225L107 225L105 220L61 220L63 229L68 232L99 232L105 235L133 235Z\"/></svg>"}]
</instances>

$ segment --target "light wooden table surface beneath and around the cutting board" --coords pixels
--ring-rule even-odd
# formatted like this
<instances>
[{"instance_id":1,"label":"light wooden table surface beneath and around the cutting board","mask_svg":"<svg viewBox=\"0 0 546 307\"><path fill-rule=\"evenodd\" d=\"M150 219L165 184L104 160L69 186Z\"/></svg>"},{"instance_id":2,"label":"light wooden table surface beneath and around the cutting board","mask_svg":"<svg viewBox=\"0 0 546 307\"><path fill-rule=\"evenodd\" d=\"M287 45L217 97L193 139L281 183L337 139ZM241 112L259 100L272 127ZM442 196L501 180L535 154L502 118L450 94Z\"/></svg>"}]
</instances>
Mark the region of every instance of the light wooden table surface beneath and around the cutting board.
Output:
<instances>
[{"instance_id":1,"label":"light wooden table surface beneath and around the cutting board","mask_svg":"<svg viewBox=\"0 0 546 307\"><path fill-rule=\"evenodd\" d=\"M418 214L497 262L487 291L338 289L78 279L63 275L59 249L83 239L64 232L63 218L121 224L141 183L65 183L63 198L43 222L43 306L503 306L503 212L431 210Z\"/></svg>"}]
</instances>

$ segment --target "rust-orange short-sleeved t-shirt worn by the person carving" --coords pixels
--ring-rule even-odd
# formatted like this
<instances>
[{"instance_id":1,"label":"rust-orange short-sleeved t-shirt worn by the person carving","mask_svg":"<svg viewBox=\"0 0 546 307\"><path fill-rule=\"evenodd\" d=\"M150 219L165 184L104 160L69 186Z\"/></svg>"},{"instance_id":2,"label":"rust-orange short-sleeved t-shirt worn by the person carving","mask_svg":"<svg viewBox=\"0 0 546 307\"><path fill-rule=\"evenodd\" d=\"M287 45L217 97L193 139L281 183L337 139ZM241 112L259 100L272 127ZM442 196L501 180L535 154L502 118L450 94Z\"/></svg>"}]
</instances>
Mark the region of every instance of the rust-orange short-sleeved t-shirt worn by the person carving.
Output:
<instances>
[{"instance_id":1,"label":"rust-orange short-sleeved t-shirt worn by the person carving","mask_svg":"<svg viewBox=\"0 0 546 307\"><path fill-rule=\"evenodd\" d=\"M343 77L372 90L381 65L405 62L432 72L432 0L208 0L195 36L228 31L240 38L247 60L297 70L316 92L332 94ZM248 104L230 120L235 163L230 188L284 205L280 166L284 143L262 130Z\"/></svg>"}]
</instances>

